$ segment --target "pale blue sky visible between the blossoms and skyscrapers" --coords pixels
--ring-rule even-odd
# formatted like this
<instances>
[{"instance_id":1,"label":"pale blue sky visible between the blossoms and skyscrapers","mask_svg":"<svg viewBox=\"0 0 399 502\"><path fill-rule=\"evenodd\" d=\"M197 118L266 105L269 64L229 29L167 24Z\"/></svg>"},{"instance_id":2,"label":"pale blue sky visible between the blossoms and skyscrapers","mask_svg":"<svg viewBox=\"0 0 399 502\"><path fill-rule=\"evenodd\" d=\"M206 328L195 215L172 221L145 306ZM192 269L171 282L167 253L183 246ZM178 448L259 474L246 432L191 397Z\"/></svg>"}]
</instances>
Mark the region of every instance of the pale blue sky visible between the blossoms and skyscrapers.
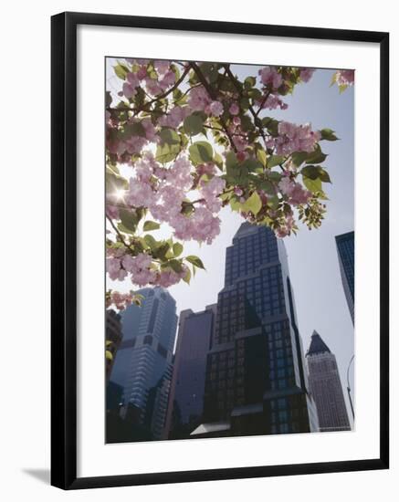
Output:
<instances>
[{"instance_id":1,"label":"pale blue sky visible between the blossoms and skyscrapers","mask_svg":"<svg viewBox=\"0 0 399 502\"><path fill-rule=\"evenodd\" d=\"M107 61L107 86L117 89L118 79L112 77L111 60ZM267 61L265 65L267 65ZM262 67L232 65L239 78L257 76ZM331 184L324 184L329 197L327 214L321 227L308 230L299 223L297 235L284 238L289 258L289 273L294 290L299 333L306 351L313 329L327 343L337 358L341 383L346 393L346 373L354 351L352 319L341 283L335 235L354 229L354 88L339 93L337 86L330 87L334 70L317 69L306 84L299 84L292 96L284 97L288 110L265 110L263 115L297 124L310 122L312 130L331 128L340 141L321 141L321 148L328 153L323 166L331 176ZM206 270L198 270L190 286L183 281L169 288L176 300L177 314L181 310L199 311L217 301L218 292L224 287L226 247L231 246L233 236L244 221L228 207L219 214L221 232L211 246L184 243L184 255L200 256ZM168 229L154 232L155 238L167 235ZM128 290L131 283L120 290ZM352 396L354 394L353 364L350 371ZM352 419L352 417L350 417Z\"/></svg>"}]
</instances>

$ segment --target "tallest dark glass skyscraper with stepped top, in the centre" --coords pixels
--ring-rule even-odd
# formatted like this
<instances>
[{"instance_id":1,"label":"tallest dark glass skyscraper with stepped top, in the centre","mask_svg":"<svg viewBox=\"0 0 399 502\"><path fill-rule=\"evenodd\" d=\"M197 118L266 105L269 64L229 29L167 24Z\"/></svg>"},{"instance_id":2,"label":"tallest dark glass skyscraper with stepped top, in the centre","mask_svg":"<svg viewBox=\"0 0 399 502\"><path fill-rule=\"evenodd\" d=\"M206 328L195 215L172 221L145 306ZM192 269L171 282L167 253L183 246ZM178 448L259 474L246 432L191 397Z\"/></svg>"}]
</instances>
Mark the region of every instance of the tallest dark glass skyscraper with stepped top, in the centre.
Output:
<instances>
[{"instance_id":1,"label":"tallest dark glass skyscraper with stepped top, in the centre","mask_svg":"<svg viewBox=\"0 0 399 502\"><path fill-rule=\"evenodd\" d=\"M204 422L192 435L317 430L284 244L268 227L244 223L226 249Z\"/></svg>"}]
</instances>

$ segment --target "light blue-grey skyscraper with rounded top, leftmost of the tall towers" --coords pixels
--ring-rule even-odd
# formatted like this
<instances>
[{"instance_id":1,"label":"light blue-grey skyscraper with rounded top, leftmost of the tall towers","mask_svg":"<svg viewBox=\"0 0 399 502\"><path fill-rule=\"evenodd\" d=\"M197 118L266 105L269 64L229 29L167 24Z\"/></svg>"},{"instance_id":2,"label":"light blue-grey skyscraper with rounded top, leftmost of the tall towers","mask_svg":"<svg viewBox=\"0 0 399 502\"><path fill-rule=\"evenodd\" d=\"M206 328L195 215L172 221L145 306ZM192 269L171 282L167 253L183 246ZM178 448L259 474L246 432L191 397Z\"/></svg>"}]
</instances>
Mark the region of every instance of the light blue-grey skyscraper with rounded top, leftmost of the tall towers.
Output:
<instances>
[{"instance_id":1,"label":"light blue-grey skyscraper with rounded top, leftmost of the tall towers","mask_svg":"<svg viewBox=\"0 0 399 502\"><path fill-rule=\"evenodd\" d=\"M143 288L142 307L121 314L123 339L110 373L122 388L122 413L161 439L173 370L176 302L163 288Z\"/></svg>"}]
</instances>

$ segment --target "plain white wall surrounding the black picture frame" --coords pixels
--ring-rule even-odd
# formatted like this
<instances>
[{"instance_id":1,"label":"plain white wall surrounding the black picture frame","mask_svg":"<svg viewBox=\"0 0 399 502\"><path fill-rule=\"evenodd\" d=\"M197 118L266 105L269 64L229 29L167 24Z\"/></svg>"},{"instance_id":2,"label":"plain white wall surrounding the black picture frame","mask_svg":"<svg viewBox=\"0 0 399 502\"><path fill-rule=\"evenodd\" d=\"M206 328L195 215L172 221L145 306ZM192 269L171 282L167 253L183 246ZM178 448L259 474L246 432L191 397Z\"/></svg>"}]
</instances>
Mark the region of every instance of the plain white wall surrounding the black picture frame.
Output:
<instances>
[{"instance_id":1,"label":"plain white wall surrounding the black picture frame","mask_svg":"<svg viewBox=\"0 0 399 502\"><path fill-rule=\"evenodd\" d=\"M228 5L228 6L227 6ZM54 0L7 2L2 8L0 30L2 152L0 215L2 217L1 289L2 351L0 363L0 485L7 501L136 500L192 502L223 497L232 502L243 499L293 497L323 502L358 499L362 502L396 499L399 476L397 434L398 392L391 392L390 471L293 476L268 479L218 481L168 486L108 488L62 492L48 486L49 468L49 138L50 138L50 19L69 11L98 11L140 16L208 18L298 26L323 26L391 32L392 87L399 78L397 48L399 28L395 3L370 0L360 3L335 0L284 0L251 4L231 0L216 3L152 0L150 3L114 0ZM394 65L394 60L396 64ZM391 96L391 110L397 110L397 94ZM392 113L392 138L399 133L399 121ZM396 133L396 134L395 134ZM394 151L394 145L392 150ZM392 155L392 182L399 175ZM394 196L394 193L393 193ZM394 197L393 197L394 198ZM394 221L394 207L392 207ZM394 225L393 225L394 226ZM399 239L392 229L392 256L399 253ZM397 262L392 262L392 283L399 279ZM392 288L392 310L399 300ZM399 382L394 361L399 356L396 334L399 323L392 317L392 388Z\"/></svg>"}]
</instances>

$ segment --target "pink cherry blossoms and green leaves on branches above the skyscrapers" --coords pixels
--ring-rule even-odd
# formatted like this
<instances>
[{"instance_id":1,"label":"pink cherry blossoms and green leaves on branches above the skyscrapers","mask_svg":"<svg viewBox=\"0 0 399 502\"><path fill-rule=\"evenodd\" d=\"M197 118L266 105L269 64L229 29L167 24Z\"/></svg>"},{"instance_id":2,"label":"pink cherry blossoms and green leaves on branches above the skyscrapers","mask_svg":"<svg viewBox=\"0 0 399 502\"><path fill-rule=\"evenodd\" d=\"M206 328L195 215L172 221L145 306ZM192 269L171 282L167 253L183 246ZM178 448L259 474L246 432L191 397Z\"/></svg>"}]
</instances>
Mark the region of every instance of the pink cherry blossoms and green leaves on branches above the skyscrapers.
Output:
<instances>
[{"instance_id":1,"label":"pink cherry blossoms and green leaves on branches above the skyscrapers","mask_svg":"<svg viewBox=\"0 0 399 502\"><path fill-rule=\"evenodd\" d=\"M262 110L286 110L284 96L298 83L309 82L313 68L267 66L259 69L257 78L250 77L241 83L226 65L215 65L212 71L215 68L222 71L216 76L214 73L212 78L209 73L199 73L201 68L210 71L201 63L127 58L126 65L123 62L120 67L121 102L107 110L106 146L110 164L123 164L124 169L129 166L131 177L123 180L122 196L107 193L106 214L117 234L107 250L106 265L111 280L129 279L139 287L168 288L190 276L183 258L156 255L154 246L135 247L135 242L145 240L141 234L145 225L136 225L131 232L133 236L127 234L127 240L123 239L117 228L121 225L123 234L126 230L123 215L130 211L135 214L144 210L152 229L167 224L174 238L206 244L211 244L220 233L218 214L229 203L232 208L232 203L238 204L240 214L248 221L270 225L281 238L295 232L295 214L311 204L317 221L316 197L297 181L299 170L290 156L296 152L314 152L319 148L321 132L312 131L310 124L297 125L285 120L272 120L268 129L268 122L262 119ZM335 78L339 85L348 86L354 76L351 70L339 70ZM197 150L193 157L193 136L199 134L207 141L213 136L225 152L220 155L212 143L207 143L215 156L203 145L205 152ZM197 144L200 142L205 141ZM163 149L168 152L166 162L164 154L158 153ZM265 156L262 173L256 166L259 149ZM227 175L230 152L242 179ZM283 160L278 159L280 166L274 163L276 172L271 173L268 158L273 156L282 156ZM241 169L244 165L246 168ZM151 220L155 220L155 225ZM182 245L178 249L179 246ZM112 292L107 301L122 309L131 302L131 296Z\"/></svg>"}]
</instances>

